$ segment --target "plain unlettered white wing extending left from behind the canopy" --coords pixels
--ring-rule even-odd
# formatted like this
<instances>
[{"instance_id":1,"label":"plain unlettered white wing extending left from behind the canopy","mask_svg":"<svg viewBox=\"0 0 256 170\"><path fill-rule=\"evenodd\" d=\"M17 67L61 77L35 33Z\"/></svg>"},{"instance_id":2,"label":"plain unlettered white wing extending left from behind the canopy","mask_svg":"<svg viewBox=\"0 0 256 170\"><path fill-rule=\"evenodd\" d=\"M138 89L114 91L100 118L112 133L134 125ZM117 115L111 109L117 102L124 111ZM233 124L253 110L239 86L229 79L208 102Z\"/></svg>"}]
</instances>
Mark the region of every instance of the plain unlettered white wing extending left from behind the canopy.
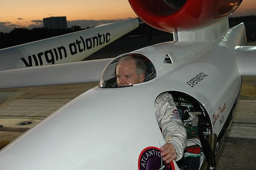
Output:
<instances>
[{"instance_id":1,"label":"plain unlettered white wing extending left from behind the canopy","mask_svg":"<svg viewBox=\"0 0 256 170\"><path fill-rule=\"evenodd\" d=\"M112 59L0 71L0 89L97 82Z\"/></svg>"}]
</instances>

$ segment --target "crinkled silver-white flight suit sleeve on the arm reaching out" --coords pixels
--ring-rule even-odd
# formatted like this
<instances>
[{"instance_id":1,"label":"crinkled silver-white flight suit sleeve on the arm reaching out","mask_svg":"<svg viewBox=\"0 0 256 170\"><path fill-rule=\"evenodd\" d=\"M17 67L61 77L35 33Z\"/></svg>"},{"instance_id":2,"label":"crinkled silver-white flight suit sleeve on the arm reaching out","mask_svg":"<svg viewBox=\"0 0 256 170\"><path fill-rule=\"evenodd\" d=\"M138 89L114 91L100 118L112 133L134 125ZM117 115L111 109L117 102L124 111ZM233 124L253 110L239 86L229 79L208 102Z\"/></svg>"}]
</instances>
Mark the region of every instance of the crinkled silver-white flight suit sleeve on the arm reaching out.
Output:
<instances>
[{"instance_id":1,"label":"crinkled silver-white flight suit sleeve on the arm reaching out","mask_svg":"<svg viewBox=\"0 0 256 170\"><path fill-rule=\"evenodd\" d=\"M166 143L171 143L177 153L176 161L183 157L186 147L186 129L177 111L172 95L165 92L159 95L154 104L157 123L162 129Z\"/></svg>"}]
</instances>

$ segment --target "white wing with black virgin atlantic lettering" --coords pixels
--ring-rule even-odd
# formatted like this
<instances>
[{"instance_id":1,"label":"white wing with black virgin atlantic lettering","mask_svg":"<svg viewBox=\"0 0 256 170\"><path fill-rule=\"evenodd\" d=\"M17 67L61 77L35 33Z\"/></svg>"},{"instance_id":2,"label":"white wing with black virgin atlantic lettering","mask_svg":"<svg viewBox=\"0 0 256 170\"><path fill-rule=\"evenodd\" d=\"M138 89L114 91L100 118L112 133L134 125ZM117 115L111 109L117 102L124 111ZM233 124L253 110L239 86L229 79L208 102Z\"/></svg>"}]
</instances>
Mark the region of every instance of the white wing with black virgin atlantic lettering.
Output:
<instances>
[{"instance_id":1,"label":"white wing with black virgin atlantic lettering","mask_svg":"<svg viewBox=\"0 0 256 170\"><path fill-rule=\"evenodd\" d=\"M0 71L81 61L138 26L134 18L0 49Z\"/></svg>"}]
</instances>

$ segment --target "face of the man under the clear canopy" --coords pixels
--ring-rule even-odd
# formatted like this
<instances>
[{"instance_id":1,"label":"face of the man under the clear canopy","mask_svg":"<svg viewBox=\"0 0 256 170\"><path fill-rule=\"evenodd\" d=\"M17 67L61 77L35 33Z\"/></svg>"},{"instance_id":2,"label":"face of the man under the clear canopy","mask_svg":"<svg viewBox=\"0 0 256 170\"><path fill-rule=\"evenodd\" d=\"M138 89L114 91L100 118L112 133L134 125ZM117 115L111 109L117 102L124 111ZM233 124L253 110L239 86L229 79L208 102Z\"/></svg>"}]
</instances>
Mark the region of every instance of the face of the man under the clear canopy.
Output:
<instances>
[{"instance_id":1,"label":"face of the man under the clear canopy","mask_svg":"<svg viewBox=\"0 0 256 170\"><path fill-rule=\"evenodd\" d=\"M116 67L117 86L129 86L132 84L142 83L144 76L138 76L133 59L121 61Z\"/></svg>"}]
</instances>

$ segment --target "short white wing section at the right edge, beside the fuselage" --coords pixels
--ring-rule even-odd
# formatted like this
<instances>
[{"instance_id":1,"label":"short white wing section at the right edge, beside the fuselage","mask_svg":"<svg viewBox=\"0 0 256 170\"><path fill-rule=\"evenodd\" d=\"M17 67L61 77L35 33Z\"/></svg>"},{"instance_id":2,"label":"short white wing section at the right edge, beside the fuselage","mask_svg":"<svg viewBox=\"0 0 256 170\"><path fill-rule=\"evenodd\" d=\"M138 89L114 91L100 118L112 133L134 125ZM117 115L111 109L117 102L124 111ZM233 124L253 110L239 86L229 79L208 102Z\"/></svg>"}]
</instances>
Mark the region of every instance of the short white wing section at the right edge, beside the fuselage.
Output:
<instances>
[{"instance_id":1,"label":"short white wing section at the right edge, beside the fuselage","mask_svg":"<svg viewBox=\"0 0 256 170\"><path fill-rule=\"evenodd\" d=\"M236 46L235 52L241 75L256 75L256 46Z\"/></svg>"}]
</instances>

